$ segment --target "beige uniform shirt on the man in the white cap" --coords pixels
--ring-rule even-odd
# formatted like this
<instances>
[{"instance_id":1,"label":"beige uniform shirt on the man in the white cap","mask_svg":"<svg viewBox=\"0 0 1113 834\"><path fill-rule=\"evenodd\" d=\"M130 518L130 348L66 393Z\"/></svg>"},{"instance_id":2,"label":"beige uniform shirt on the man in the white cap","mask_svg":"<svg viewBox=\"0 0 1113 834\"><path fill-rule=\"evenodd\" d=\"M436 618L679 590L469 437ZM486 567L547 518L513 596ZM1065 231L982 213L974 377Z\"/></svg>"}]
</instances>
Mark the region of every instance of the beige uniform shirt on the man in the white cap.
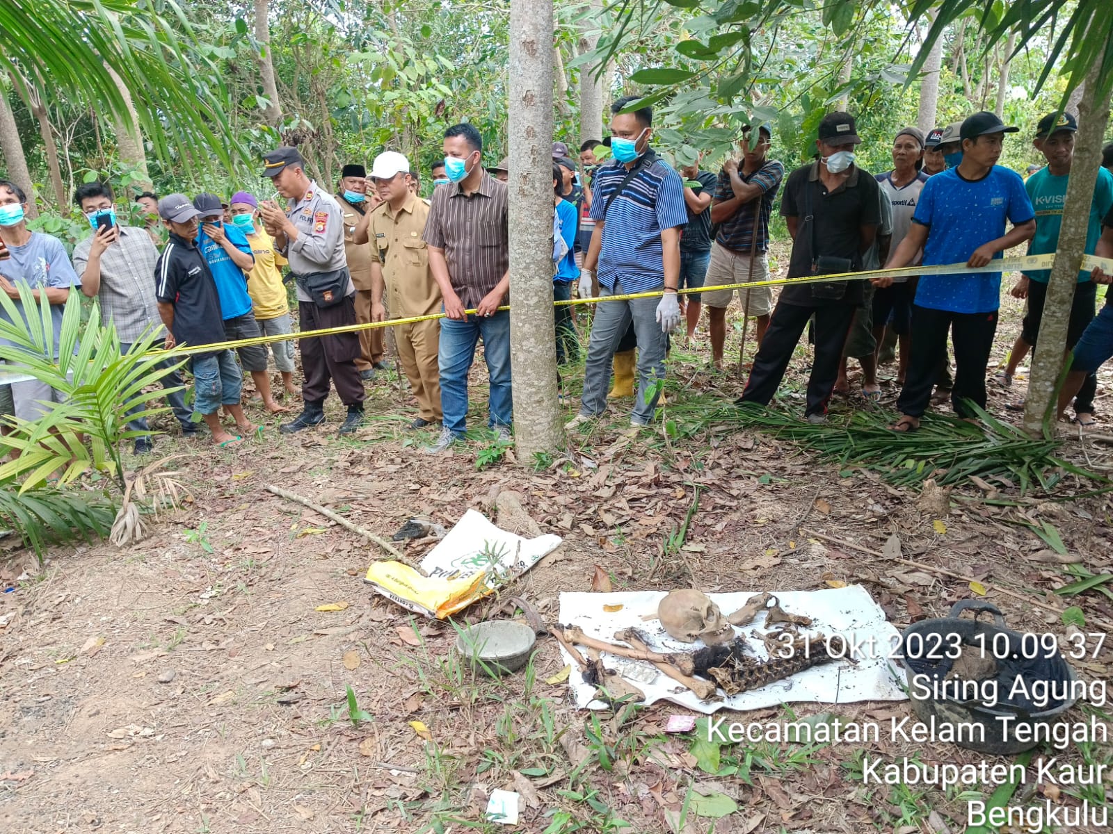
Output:
<instances>
[{"instance_id":1,"label":"beige uniform shirt on the man in the white cap","mask_svg":"<svg viewBox=\"0 0 1113 834\"><path fill-rule=\"evenodd\" d=\"M384 202L371 215L372 258L383 266L386 308L392 318L441 311L441 288L433 280L422 237L427 219L429 206L414 195L397 214Z\"/></svg>"}]
</instances>

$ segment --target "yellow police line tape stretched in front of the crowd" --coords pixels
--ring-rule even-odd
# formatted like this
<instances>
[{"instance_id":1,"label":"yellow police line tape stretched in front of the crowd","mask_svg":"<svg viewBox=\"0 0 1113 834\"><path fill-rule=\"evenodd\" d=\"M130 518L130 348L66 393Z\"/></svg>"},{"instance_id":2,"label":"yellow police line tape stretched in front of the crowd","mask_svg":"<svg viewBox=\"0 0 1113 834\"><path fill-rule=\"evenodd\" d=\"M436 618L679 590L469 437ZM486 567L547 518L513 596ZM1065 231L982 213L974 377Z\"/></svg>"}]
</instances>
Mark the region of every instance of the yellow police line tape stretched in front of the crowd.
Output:
<instances>
[{"instance_id":1,"label":"yellow police line tape stretched in front of the crowd","mask_svg":"<svg viewBox=\"0 0 1113 834\"><path fill-rule=\"evenodd\" d=\"M968 267L965 264L946 264L933 266L904 267L900 269L870 269L863 272L836 272L833 275L809 275L802 278L774 278L765 281L746 281L742 284L720 284L712 287L698 287L678 290L681 295L689 292L713 292L718 290L755 289L757 287L777 287L796 284L815 284L818 281L841 281L861 280L866 278L877 278L879 276L890 276L894 278L915 277L919 275L964 275L969 272L1015 272L1030 269L1051 269L1055 262L1055 254L1048 255L1024 255L1016 258L998 258L986 264L984 267ZM1113 275L1113 259L1097 258L1086 255L1082 258L1082 269L1093 269L1101 267L1103 271ZM618 296L599 296L597 298L573 298L568 301L553 301L554 307L572 307L581 304L599 304L601 301L629 301L637 298L657 298L663 295L663 290L652 290L650 292L628 292ZM510 305L503 305L498 310L509 310ZM464 310L465 315L475 315L474 309ZM273 336L255 336L249 339L235 339L230 341L215 341L208 345L194 345L189 347L175 347L170 350L156 348L150 354L162 356L189 356L191 354L208 354L218 350L235 350L242 347L254 345L269 345L275 341L289 341L292 339L315 339L322 336L337 336L345 332L357 332L359 330L374 330L381 327L397 327L400 325L414 325L420 321L432 321L434 319L446 318L443 312L433 312L427 316L411 316L410 318L393 318L386 321L368 321L362 325L344 325L343 327L326 327L319 330L303 330L293 334L275 334Z\"/></svg>"}]
</instances>

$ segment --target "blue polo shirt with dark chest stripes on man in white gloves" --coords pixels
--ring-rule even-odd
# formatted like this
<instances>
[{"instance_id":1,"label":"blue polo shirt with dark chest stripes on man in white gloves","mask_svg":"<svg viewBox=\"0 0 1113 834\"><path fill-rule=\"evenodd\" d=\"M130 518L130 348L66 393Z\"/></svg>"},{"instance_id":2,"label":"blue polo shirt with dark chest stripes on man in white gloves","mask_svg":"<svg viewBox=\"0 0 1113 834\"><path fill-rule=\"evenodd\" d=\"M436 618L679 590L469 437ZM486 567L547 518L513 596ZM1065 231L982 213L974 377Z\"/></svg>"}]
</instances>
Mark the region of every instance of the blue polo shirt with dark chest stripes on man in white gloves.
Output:
<instances>
[{"instance_id":1,"label":"blue polo shirt with dark chest stripes on man in white gloves","mask_svg":"<svg viewBox=\"0 0 1113 834\"><path fill-rule=\"evenodd\" d=\"M595 173L591 217L605 221L599 282L613 291L614 282L621 280L623 292L643 292L664 284L661 230L686 226L688 210L680 175L648 150L639 160L638 172L603 217L611 195L627 173L626 166L617 160Z\"/></svg>"}]
</instances>

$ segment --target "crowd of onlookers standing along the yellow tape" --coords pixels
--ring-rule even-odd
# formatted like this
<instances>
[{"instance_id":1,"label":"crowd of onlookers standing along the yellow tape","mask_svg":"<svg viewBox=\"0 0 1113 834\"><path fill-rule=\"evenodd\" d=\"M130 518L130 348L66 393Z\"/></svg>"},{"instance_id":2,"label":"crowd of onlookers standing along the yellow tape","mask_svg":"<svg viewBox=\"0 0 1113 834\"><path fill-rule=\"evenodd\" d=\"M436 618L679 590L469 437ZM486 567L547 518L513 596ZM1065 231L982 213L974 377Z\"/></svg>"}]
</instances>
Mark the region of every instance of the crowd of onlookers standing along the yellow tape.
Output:
<instances>
[{"instance_id":1,"label":"crowd of onlookers standing along the yellow tape","mask_svg":"<svg viewBox=\"0 0 1113 834\"><path fill-rule=\"evenodd\" d=\"M807 329L815 345L809 421L826 419L833 395L850 393L849 359L860 366L861 395L878 400L877 365L887 344L899 354L894 430L916 429L932 403L948 397L967 418L971 404L985 406L1002 275L982 270L1022 244L1033 255L1056 251L1077 130L1073 116L1052 113L1035 126L1032 142L1046 165L1026 180L997 165L1006 135L1018 129L989 112L927 135L914 127L897 131L893 168L877 175L857 163L863 138L845 112L823 118L815 158L790 172L769 157L769 125L742 128L737 155L718 173L702 170L699 158L678 170L653 150L652 117L651 108L620 99L610 136L585 139L577 159L568 145L553 143L553 299L578 294L604 301L591 318L583 394L569 428L601 415L608 399L631 395L631 425L648 425L662 396L670 334L684 321L687 338L696 337L703 307L711 365L721 368L726 311L736 291L743 316L755 320L757 346L739 401L772 399ZM467 123L445 131L443 151L430 171L429 200L418 196L416 168L395 151L376 156L370 171L345 165L326 188L306 175L296 148L278 148L263 159L266 189L227 199L144 192L135 198L142 226L117 216L107 183L85 183L75 201L91 234L72 256L57 238L28 228L26 195L0 181L0 289L20 308L23 284L37 304L49 306L55 358L62 306L73 288L99 299L101 318L116 327L125 351L152 329L168 348L214 346L189 356L191 396L179 390L167 398L183 434L197 435L204 421L220 446L256 430L242 407L244 371L269 413L287 411L283 400L301 394L301 413L279 431L324 421L334 387L347 408L339 433L349 434L364 419L364 385L385 367L382 328L298 340L299 389L293 340L274 341L269 350L223 349L227 340L293 332L286 281L295 285L301 331L443 311L440 320L392 328L390 341L417 400L412 427L440 426L430 453L463 437L467 375L482 340L487 426L509 439L510 314L499 308L510 290L510 163L484 167L482 138ZM1113 168L1113 145L1106 157ZM1113 257L1113 175L1106 168L1097 173L1085 251ZM769 287L729 287L770 277L778 196L792 239L787 277L833 278L790 282L775 302ZM956 264L978 271L933 270ZM913 278L846 278L899 267L922 270ZM1036 344L1047 280L1048 270L1028 270L1011 290L1026 299L1026 311L1009 361L995 377L1002 386L1012 386L1017 363ZM1109 281L1101 269L1080 272L1070 316L1072 370L1061 411L1073 401L1082 426L1094 423L1094 371L1113 354L1113 308L1106 302L1095 317L1097 285ZM680 289L699 291L681 297ZM643 292L658 295L607 300ZM571 309L554 310L560 366L581 349ZM272 358L282 378L277 394ZM181 376L167 369L162 381L177 388ZM36 380L17 381L0 388L0 411L33 419L59 396ZM225 426L221 409L234 428ZM147 430L141 417L130 427ZM149 449L149 435L138 435L135 451Z\"/></svg>"}]
</instances>

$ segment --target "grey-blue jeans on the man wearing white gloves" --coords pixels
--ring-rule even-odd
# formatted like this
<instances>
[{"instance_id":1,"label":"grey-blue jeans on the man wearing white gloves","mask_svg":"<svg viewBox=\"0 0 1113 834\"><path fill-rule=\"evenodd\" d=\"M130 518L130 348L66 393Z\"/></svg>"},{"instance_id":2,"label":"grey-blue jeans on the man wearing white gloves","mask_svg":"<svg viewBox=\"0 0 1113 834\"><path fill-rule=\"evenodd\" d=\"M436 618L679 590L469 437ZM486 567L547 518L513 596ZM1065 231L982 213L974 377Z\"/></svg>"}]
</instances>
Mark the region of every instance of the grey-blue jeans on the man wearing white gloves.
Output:
<instances>
[{"instance_id":1,"label":"grey-blue jeans on the man wearing white gloves","mask_svg":"<svg viewBox=\"0 0 1113 834\"><path fill-rule=\"evenodd\" d=\"M661 289L657 287L656 289ZM651 290L646 290L651 291ZM619 281L614 289L600 287L603 298L621 296L626 292ZM588 360L583 368L583 396L580 398L580 414L594 417L607 409L607 389L611 384L611 360L622 341L630 322L638 336L638 396L634 398L631 419L648 425L653 419L657 400L652 393L657 381L664 379L666 336L657 324L657 306L660 298L633 298L629 301L603 301L595 306L595 318L591 325L591 341L588 342ZM647 401L648 400L648 401Z\"/></svg>"}]
</instances>

